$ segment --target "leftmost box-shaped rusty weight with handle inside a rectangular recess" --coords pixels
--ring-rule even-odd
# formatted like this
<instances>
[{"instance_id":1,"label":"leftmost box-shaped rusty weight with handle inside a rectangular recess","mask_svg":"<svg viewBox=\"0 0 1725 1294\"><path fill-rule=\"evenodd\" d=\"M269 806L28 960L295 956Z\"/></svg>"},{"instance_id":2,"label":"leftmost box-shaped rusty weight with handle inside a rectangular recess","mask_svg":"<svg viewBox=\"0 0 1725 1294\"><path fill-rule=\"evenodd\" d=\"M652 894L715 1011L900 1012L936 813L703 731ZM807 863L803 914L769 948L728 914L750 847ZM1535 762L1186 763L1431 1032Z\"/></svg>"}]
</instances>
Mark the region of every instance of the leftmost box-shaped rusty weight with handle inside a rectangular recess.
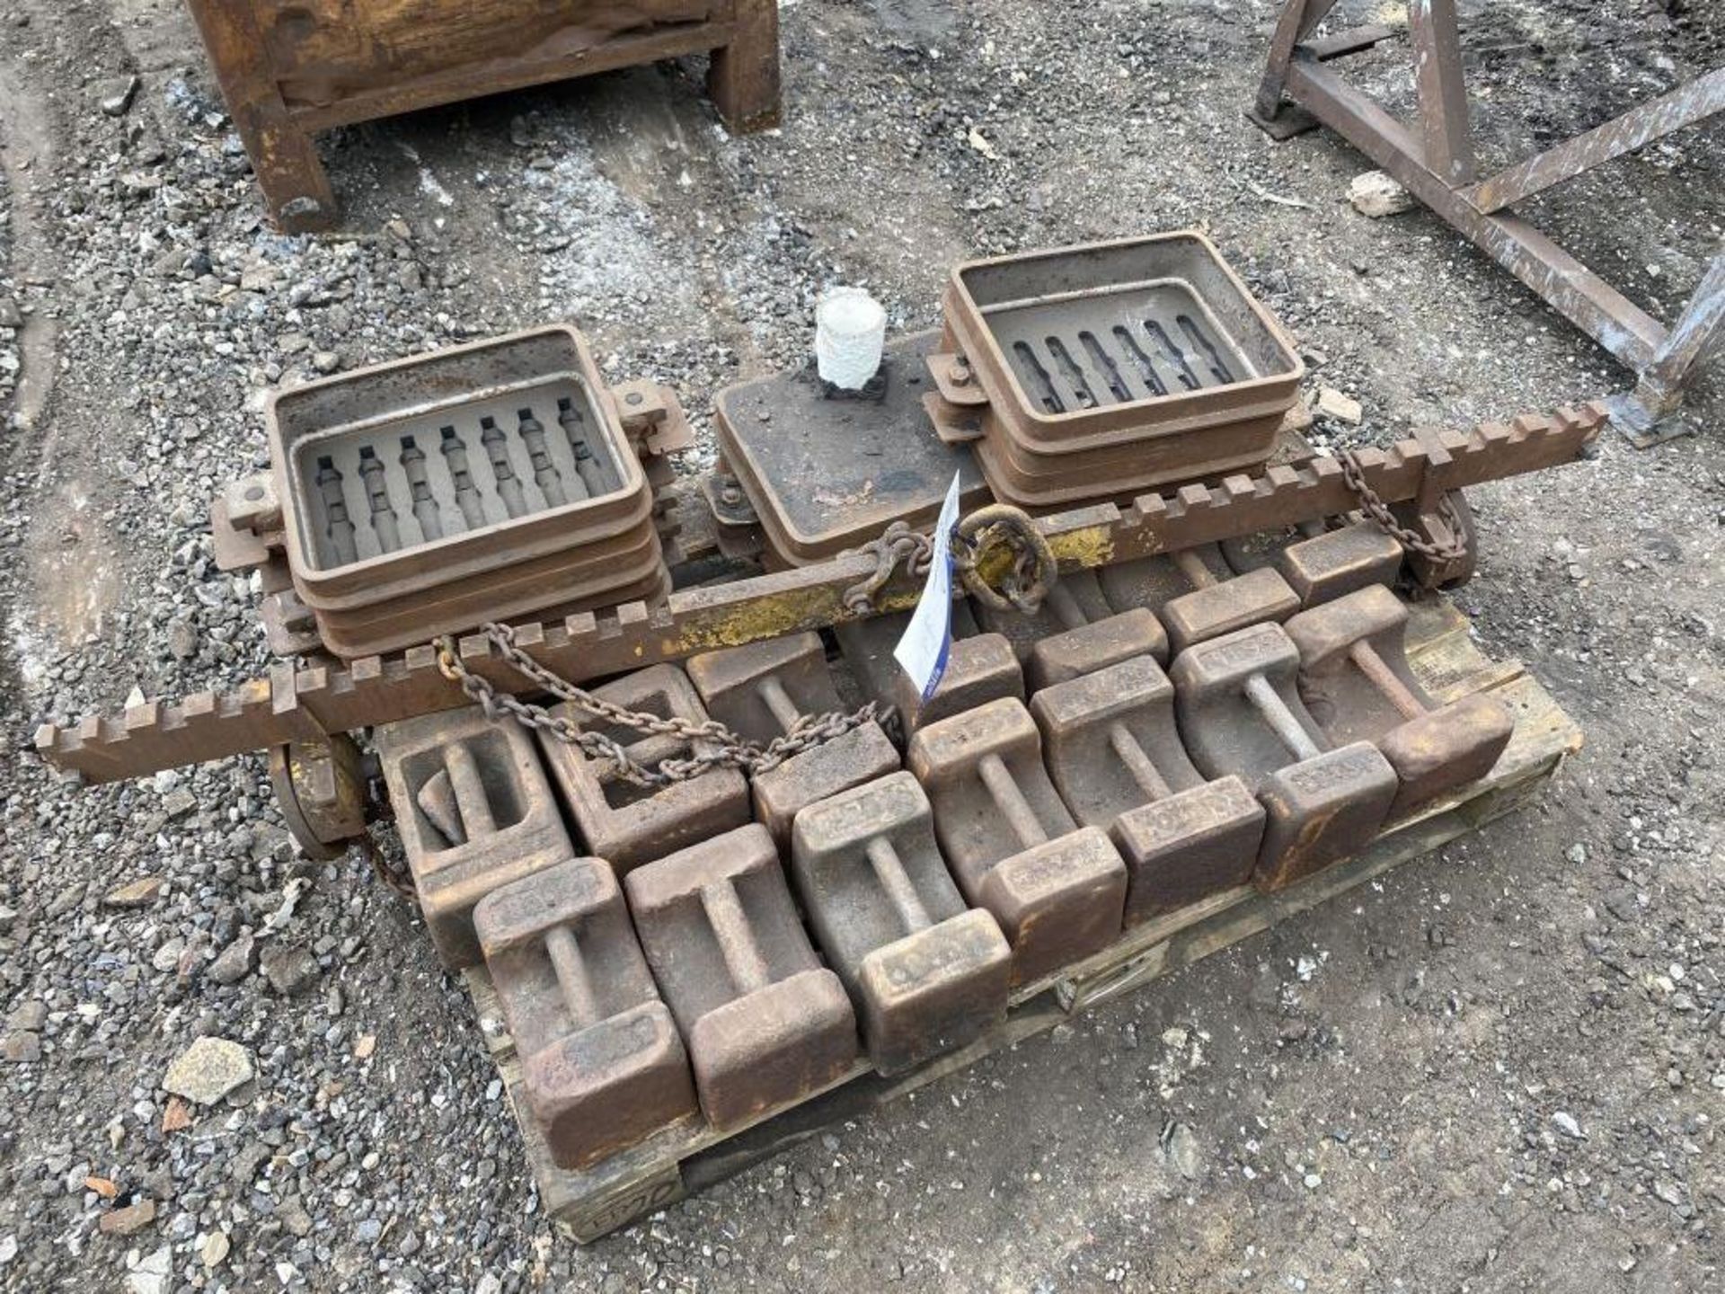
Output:
<instances>
[{"instance_id":1,"label":"leftmost box-shaped rusty weight with handle inside a rectangular recess","mask_svg":"<svg viewBox=\"0 0 1725 1294\"><path fill-rule=\"evenodd\" d=\"M373 732L419 909L450 970L480 961L473 909L574 856L528 732L478 706Z\"/></svg>"}]
</instances>

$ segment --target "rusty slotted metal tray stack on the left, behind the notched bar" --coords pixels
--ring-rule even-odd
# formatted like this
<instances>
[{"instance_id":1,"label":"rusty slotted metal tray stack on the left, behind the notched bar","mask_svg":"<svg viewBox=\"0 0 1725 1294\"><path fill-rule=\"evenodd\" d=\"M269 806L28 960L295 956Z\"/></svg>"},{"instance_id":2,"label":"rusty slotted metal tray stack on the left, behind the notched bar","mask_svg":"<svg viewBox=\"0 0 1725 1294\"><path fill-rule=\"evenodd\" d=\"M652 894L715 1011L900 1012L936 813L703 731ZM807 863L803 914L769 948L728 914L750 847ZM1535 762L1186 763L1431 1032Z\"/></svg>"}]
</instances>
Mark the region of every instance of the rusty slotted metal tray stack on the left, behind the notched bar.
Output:
<instances>
[{"instance_id":1,"label":"rusty slotted metal tray stack on the left, behind the notched bar","mask_svg":"<svg viewBox=\"0 0 1725 1294\"><path fill-rule=\"evenodd\" d=\"M630 402L657 411L647 435ZM573 328L279 392L267 437L271 478L224 495L217 556L242 528L279 543L336 656L669 592L640 454L687 443L687 424L666 392L609 390Z\"/></svg>"}]
</instances>

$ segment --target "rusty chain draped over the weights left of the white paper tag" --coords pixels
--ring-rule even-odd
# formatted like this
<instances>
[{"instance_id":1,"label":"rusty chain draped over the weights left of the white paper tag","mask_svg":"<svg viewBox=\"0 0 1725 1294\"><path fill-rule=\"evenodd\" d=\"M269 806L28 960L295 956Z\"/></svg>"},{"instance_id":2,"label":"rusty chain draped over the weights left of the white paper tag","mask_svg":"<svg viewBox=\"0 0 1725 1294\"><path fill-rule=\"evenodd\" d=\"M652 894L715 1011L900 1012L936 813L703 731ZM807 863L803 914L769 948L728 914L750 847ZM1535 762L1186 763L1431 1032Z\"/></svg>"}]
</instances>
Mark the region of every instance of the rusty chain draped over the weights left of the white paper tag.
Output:
<instances>
[{"instance_id":1,"label":"rusty chain draped over the weights left of the white paper tag","mask_svg":"<svg viewBox=\"0 0 1725 1294\"><path fill-rule=\"evenodd\" d=\"M514 630L507 625L485 625L481 633L485 633L486 640L509 668L536 683L543 692L557 697L557 700L569 702L578 711L602 719L611 726L630 728L652 737L674 737L688 742L692 747L687 759L662 759L656 768L649 768L631 759L623 742L614 737L583 728L574 718L554 714L547 706L499 692L488 678L481 678L462 664L455 650L455 642L450 637L445 635L436 640L438 669L447 680L457 683L462 694L485 711L486 718L509 718L523 728L542 732L552 740L580 749L588 759L605 764L599 773L600 780L605 782L621 780L637 787L669 787L676 782L697 778L714 768L764 773L792 756L812 751L816 745L823 745L835 737L844 737L864 723L880 723L888 730L897 723L897 713L892 706L880 706L871 700L850 714L837 711L831 714L804 714L788 733L768 745L761 745L740 737L718 719L706 719L704 723L680 718L662 719L647 711L624 709L586 688L576 687L521 650L516 645Z\"/></svg>"}]
</instances>

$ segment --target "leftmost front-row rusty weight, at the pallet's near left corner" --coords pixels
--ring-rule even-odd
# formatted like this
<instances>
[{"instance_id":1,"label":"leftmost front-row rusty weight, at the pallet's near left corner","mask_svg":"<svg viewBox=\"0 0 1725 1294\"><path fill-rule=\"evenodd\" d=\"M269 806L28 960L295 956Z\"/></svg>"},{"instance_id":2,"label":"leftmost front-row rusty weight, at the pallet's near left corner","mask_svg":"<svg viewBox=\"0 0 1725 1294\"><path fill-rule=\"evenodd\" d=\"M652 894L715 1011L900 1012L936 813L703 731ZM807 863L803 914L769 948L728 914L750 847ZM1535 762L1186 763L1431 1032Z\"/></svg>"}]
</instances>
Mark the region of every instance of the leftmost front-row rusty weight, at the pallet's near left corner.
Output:
<instances>
[{"instance_id":1,"label":"leftmost front-row rusty weight, at the pallet's near left corner","mask_svg":"<svg viewBox=\"0 0 1725 1294\"><path fill-rule=\"evenodd\" d=\"M683 1040L607 863L571 859L492 890L473 925L559 1168L586 1168L697 1111Z\"/></svg>"}]
</instances>

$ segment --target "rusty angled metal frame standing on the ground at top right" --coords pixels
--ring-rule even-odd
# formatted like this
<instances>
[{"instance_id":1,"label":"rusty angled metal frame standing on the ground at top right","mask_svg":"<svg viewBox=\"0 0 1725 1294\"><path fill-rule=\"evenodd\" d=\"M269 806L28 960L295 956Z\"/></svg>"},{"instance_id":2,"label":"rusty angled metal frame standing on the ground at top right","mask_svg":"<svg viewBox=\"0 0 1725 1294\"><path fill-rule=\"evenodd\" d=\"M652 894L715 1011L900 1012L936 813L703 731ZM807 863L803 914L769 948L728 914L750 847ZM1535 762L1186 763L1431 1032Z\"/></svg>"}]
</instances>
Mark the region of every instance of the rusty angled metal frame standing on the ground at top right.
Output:
<instances>
[{"instance_id":1,"label":"rusty angled metal frame standing on the ground at top right","mask_svg":"<svg viewBox=\"0 0 1725 1294\"><path fill-rule=\"evenodd\" d=\"M1685 385L1711 355L1725 326L1725 252L1713 255L1694 297L1666 328L1509 207L1725 110L1725 67L1480 179L1454 0L1416 0L1408 7L1420 105L1416 126L1390 116L1327 66L1392 35L1385 28L1359 28L1314 38L1333 7L1335 0L1287 0L1258 100L1247 116L1276 140L1320 124L1346 138L1615 359L1635 369L1635 392L1616 402L1616 421L1630 440L1646 447L1680 433L1680 426L1661 426L1661 419L1682 404Z\"/></svg>"}]
</instances>

